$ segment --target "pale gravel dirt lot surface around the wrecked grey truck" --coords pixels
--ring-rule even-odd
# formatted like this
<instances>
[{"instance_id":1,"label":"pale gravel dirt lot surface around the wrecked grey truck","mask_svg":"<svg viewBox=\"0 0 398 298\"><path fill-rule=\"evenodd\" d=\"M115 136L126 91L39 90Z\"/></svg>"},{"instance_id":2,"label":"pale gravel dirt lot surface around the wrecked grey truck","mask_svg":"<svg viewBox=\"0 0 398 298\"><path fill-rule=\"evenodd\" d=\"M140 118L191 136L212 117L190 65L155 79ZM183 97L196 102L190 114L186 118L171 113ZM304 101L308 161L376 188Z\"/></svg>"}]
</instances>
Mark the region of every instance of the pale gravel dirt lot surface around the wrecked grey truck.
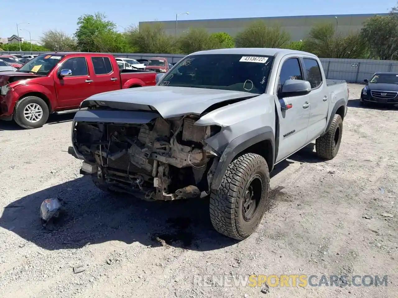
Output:
<instances>
[{"instance_id":1,"label":"pale gravel dirt lot surface around the wrecked grey truck","mask_svg":"<svg viewBox=\"0 0 398 298\"><path fill-rule=\"evenodd\" d=\"M279 164L269 211L242 242L213 230L206 200L148 203L97 190L66 152L72 116L37 130L0 123L0 296L397 297L398 109L361 108L361 85L349 87L338 156L320 161L312 144ZM53 231L39 221L48 197L66 209ZM388 286L263 294L194 283L252 273L388 275Z\"/></svg>"}]
</instances>

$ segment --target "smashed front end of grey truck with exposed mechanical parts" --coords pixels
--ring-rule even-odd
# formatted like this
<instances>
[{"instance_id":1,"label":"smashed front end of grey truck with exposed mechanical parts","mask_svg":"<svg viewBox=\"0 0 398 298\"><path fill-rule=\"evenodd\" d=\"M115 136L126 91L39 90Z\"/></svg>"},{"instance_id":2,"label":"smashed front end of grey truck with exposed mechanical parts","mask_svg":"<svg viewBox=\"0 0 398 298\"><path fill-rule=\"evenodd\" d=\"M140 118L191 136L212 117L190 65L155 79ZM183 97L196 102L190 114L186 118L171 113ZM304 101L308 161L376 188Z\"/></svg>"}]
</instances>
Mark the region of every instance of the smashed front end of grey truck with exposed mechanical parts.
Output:
<instances>
[{"instance_id":1,"label":"smashed front end of grey truck with exposed mechanical parts","mask_svg":"<svg viewBox=\"0 0 398 298\"><path fill-rule=\"evenodd\" d=\"M84 112L97 113L97 120L75 117L70 153L84 159L82 171L91 174L100 189L146 200L209 194L219 153L205 139L220 132L219 126L196 126L199 116L195 115L165 120L153 112ZM103 116L106 113L108 118ZM111 115L115 113L117 122ZM121 113L124 123L118 123ZM107 122L97 122L103 119Z\"/></svg>"}]
</instances>

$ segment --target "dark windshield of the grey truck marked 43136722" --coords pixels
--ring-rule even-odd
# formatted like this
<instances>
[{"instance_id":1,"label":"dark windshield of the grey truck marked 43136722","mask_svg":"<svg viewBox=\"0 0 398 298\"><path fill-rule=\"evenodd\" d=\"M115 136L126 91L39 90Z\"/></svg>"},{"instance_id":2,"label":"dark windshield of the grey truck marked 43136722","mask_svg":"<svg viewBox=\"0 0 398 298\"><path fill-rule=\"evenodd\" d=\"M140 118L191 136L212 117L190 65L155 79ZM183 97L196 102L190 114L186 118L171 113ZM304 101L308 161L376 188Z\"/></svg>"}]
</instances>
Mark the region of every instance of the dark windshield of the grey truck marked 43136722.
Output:
<instances>
[{"instance_id":1,"label":"dark windshield of the grey truck marked 43136722","mask_svg":"<svg viewBox=\"0 0 398 298\"><path fill-rule=\"evenodd\" d=\"M188 56L160 81L160 86L265 92L273 57L241 54Z\"/></svg>"}]
</instances>

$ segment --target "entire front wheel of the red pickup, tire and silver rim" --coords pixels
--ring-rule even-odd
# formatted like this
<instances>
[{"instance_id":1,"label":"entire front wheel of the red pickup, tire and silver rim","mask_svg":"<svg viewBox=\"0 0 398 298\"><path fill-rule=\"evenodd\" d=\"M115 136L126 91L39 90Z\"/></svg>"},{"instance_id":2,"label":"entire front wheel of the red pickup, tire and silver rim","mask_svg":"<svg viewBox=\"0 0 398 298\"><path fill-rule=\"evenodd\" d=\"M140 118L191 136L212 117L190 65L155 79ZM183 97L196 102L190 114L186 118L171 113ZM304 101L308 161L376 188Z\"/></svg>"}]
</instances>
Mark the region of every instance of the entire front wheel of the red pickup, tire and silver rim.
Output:
<instances>
[{"instance_id":1,"label":"entire front wheel of the red pickup, tire and silver rim","mask_svg":"<svg viewBox=\"0 0 398 298\"><path fill-rule=\"evenodd\" d=\"M45 101L37 96L27 96L15 105L14 121L22 128L42 127L49 118L49 108Z\"/></svg>"}]
</instances>

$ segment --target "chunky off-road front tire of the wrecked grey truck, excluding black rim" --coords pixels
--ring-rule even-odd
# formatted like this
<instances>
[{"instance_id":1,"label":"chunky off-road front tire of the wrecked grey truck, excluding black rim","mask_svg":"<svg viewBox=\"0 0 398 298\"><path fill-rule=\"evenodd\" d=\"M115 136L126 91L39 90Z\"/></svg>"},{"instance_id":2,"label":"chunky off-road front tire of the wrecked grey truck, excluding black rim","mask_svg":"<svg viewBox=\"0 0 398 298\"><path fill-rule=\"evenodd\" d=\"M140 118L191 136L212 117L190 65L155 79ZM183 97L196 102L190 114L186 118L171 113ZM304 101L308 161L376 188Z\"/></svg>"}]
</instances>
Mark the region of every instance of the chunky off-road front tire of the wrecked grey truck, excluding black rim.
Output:
<instances>
[{"instance_id":1,"label":"chunky off-road front tire of the wrecked grey truck, excluding black rim","mask_svg":"<svg viewBox=\"0 0 398 298\"><path fill-rule=\"evenodd\" d=\"M244 193L254 177L262 183L257 209L246 221L243 215ZM229 164L218 190L210 195L210 219L213 227L230 238L243 240L250 236L263 218L269 196L269 170L263 157L246 153Z\"/></svg>"}]
</instances>

